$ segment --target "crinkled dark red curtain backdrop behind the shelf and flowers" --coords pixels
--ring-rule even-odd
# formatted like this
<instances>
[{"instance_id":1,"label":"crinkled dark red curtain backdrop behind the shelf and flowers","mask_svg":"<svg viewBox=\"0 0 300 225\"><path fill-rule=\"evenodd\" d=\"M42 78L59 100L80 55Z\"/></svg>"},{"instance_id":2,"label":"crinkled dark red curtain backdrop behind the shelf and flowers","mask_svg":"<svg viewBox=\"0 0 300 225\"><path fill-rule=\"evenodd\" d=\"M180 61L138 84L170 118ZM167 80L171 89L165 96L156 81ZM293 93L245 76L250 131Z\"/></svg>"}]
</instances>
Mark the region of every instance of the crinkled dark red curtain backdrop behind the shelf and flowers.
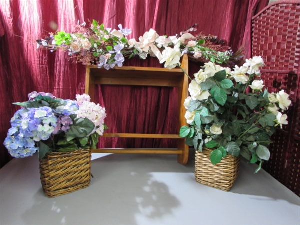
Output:
<instances>
[{"instance_id":1,"label":"crinkled dark red curtain backdrop behind the shelf and flowers","mask_svg":"<svg viewBox=\"0 0 300 225\"><path fill-rule=\"evenodd\" d=\"M77 21L97 20L105 27L132 29L138 39L150 28L175 35L197 23L197 33L216 35L233 51L249 50L254 11L268 0L0 0L0 167L11 157L3 145L10 118L31 91L51 92L64 99L84 93L85 66L67 53L36 49L35 40L49 32L71 32ZM246 36L245 36L246 32ZM136 58L126 65L161 67L158 59ZM199 69L190 62L190 74ZM177 133L176 89L99 86L98 102L106 108L109 132ZM102 138L99 147L175 147L168 139Z\"/></svg>"}]
</instances>

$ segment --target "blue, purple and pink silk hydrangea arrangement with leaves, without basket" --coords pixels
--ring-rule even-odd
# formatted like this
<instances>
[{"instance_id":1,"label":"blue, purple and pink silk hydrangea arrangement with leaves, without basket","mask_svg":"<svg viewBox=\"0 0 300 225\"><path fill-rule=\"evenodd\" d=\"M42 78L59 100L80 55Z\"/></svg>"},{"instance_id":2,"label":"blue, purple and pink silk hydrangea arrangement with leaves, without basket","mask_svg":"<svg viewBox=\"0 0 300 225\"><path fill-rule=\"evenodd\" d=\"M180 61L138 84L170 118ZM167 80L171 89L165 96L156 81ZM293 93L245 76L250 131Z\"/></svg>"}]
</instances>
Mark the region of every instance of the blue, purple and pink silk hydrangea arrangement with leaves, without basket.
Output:
<instances>
[{"instance_id":1,"label":"blue, purple and pink silk hydrangea arrangement with leaves, without basket","mask_svg":"<svg viewBox=\"0 0 300 225\"><path fill-rule=\"evenodd\" d=\"M11 118L4 141L13 157L38 151L42 159L47 152L96 148L99 135L107 128L106 113L105 108L90 102L89 95L63 100L50 93L32 92L28 97L29 101L14 103L21 109Z\"/></svg>"}]
</instances>

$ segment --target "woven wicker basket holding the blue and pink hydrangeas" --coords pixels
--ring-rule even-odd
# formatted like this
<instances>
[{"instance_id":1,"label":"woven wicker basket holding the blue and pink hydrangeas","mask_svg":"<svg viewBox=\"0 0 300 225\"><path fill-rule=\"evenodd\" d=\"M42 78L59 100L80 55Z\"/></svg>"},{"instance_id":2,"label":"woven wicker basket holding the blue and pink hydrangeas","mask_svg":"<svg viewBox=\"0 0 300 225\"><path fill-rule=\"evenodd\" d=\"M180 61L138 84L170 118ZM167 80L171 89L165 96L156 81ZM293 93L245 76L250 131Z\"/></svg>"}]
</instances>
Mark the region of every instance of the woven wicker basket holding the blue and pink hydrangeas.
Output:
<instances>
[{"instance_id":1,"label":"woven wicker basket holding the blue and pink hydrangeas","mask_svg":"<svg viewBox=\"0 0 300 225\"><path fill-rule=\"evenodd\" d=\"M91 150L51 152L39 161L40 180L47 197L57 197L90 184Z\"/></svg>"}]
</instances>

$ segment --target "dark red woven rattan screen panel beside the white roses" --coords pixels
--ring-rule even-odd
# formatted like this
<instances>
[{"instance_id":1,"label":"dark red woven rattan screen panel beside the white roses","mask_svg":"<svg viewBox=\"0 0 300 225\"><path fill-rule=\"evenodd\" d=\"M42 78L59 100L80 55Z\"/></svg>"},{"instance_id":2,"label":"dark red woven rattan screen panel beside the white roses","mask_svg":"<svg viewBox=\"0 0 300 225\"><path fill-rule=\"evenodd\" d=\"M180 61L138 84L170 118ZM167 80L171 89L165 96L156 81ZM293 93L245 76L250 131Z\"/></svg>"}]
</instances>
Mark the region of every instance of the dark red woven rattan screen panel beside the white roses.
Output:
<instances>
[{"instance_id":1,"label":"dark red woven rattan screen panel beside the white roses","mask_svg":"<svg viewBox=\"0 0 300 225\"><path fill-rule=\"evenodd\" d=\"M300 0L277 1L252 17L252 56L265 61L269 92L284 89L292 100L289 124L277 129L263 168L300 196Z\"/></svg>"}]
</instances>

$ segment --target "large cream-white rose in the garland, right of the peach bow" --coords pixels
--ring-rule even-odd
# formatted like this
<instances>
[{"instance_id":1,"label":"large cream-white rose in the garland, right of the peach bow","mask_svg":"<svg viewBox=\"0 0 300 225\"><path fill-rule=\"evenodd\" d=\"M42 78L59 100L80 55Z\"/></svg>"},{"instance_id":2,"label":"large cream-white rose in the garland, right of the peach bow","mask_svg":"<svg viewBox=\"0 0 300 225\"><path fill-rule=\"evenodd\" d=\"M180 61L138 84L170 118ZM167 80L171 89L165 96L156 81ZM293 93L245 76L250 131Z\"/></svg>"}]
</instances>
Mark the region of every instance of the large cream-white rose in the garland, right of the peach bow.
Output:
<instances>
[{"instance_id":1,"label":"large cream-white rose in the garland, right of the peach bow","mask_svg":"<svg viewBox=\"0 0 300 225\"><path fill-rule=\"evenodd\" d=\"M179 45L176 45L174 48L166 47L162 51L162 57L159 61L160 63L164 63L164 67L168 69L175 68L177 65L180 65L180 58L182 53L179 49Z\"/></svg>"}]
</instances>

